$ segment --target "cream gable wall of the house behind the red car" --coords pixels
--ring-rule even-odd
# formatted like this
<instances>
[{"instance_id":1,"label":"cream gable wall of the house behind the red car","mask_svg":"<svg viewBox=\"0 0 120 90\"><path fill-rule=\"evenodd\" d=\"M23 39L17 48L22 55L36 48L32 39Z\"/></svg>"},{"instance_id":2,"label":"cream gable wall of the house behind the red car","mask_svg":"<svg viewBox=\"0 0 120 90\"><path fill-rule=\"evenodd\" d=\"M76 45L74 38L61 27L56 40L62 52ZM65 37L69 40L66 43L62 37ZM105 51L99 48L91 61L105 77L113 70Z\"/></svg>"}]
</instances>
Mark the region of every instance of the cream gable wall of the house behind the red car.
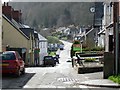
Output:
<instances>
[{"instance_id":1,"label":"cream gable wall of the house behind the red car","mask_svg":"<svg viewBox=\"0 0 120 90\"><path fill-rule=\"evenodd\" d=\"M16 28L14 28L6 19L2 18L3 25L3 46L9 45L14 48L26 48L28 55L30 49L30 41L24 37ZM26 56L27 57L27 56ZM26 63L27 58L26 58Z\"/></svg>"}]
</instances>

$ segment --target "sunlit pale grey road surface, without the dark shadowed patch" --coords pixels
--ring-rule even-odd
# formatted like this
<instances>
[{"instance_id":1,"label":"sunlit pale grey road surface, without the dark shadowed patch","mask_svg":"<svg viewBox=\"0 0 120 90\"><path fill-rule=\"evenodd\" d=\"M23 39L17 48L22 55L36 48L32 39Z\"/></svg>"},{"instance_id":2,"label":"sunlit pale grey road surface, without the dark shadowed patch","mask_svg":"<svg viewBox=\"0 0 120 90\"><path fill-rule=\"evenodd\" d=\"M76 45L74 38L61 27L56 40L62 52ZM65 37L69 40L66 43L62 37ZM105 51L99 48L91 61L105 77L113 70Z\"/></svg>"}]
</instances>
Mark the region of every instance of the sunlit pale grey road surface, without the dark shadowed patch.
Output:
<instances>
[{"instance_id":1,"label":"sunlit pale grey road surface, without the dark shadowed patch","mask_svg":"<svg viewBox=\"0 0 120 90\"><path fill-rule=\"evenodd\" d=\"M72 68L71 62L67 62L70 60L71 44L68 42L64 42L64 44L64 50L60 51L60 64L57 64L57 66L27 68L27 73L36 74L24 86L24 88L83 88L82 85L79 85L79 82L86 81L89 78L92 79L93 76L96 76L96 74L98 74L77 74ZM102 75L102 73L99 73L98 75ZM96 78L102 77L98 75Z\"/></svg>"}]
</instances>

